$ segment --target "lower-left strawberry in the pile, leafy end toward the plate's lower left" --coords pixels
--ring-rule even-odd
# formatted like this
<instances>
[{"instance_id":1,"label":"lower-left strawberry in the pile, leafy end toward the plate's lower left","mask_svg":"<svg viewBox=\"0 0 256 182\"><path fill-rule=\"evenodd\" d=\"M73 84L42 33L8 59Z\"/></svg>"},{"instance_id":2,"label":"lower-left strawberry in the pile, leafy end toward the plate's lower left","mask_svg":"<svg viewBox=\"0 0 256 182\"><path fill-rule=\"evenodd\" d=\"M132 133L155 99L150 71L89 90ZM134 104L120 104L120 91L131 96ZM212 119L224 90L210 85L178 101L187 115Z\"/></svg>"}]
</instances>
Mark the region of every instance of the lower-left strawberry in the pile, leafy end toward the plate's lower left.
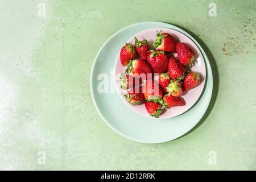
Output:
<instances>
[{"instance_id":1,"label":"lower-left strawberry in the pile, leafy end toward the plate's lower left","mask_svg":"<svg viewBox=\"0 0 256 182\"><path fill-rule=\"evenodd\" d=\"M126 100L133 106L140 105L144 102L142 87L133 88L125 95Z\"/></svg>"}]
</instances>

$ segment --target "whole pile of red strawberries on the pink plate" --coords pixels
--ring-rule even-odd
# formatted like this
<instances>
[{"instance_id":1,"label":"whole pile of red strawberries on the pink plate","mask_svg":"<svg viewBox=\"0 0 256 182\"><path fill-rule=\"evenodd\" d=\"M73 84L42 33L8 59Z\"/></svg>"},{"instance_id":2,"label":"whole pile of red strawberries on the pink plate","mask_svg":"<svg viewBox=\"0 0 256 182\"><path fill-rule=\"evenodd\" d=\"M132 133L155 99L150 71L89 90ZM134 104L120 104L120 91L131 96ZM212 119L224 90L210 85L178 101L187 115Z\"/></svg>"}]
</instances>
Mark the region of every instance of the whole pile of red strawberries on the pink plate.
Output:
<instances>
[{"instance_id":1,"label":"whole pile of red strawberries on the pink plate","mask_svg":"<svg viewBox=\"0 0 256 182\"><path fill-rule=\"evenodd\" d=\"M176 42L170 34L156 31L153 50L147 40L135 38L135 45L126 43L120 51L120 61L127 67L121 74L121 88L131 105L145 104L147 112L155 118L162 109L183 106L183 91L200 84L199 73L189 71L195 53L185 43ZM177 59L173 53L177 52ZM154 77L158 75L158 82ZM142 85L142 82L145 82Z\"/></svg>"}]
</instances>

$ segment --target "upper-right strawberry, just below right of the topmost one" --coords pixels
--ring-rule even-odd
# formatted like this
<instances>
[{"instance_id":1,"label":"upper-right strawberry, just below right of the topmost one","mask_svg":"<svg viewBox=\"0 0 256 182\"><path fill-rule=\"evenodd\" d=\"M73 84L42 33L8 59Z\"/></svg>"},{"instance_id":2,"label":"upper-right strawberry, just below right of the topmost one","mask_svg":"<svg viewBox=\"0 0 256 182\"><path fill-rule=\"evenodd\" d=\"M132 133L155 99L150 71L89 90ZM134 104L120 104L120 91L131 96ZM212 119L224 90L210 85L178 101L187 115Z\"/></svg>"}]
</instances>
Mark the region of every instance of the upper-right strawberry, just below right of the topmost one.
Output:
<instances>
[{"instance_id":1,"label":"upper-right strawberry, just below right of the topmost one","mask_svg":"<svg viewBox=\"0 0 256 182\"><path fill-rule=\"evenodd\" d=\"M177 57L181 64L191 67L193 61L195 59L195 53L193 53L192 49L184 43L176 44Z\"/></svg>"}]
</instances>

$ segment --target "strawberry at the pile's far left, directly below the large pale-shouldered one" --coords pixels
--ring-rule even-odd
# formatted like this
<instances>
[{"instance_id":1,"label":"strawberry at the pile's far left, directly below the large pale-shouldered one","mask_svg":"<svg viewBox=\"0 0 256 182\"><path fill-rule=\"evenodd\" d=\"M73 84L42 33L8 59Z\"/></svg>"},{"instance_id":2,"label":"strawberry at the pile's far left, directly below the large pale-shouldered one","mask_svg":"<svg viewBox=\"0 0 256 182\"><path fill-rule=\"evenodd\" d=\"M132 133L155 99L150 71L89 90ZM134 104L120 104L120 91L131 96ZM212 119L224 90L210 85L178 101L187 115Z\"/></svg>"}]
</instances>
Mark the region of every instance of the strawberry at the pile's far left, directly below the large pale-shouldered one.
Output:
<instances>
[{"instance_id":1,"label":"strawberry at the pile's far left, directly below the large pale-shouldered one","mask_svg":"<svg viewBox=\"0 0 256 182\"><path fill-rule=\"evenodd\" d=\"M131 88L134 88L136 86L139 86L142 84L142 81L141 81L141 78L136 78L136 77L133 77L129 74L121 74L120 76L120 79L121 79L121 88L122 89L131 89Z\"/></svg>"}]
</instances>

